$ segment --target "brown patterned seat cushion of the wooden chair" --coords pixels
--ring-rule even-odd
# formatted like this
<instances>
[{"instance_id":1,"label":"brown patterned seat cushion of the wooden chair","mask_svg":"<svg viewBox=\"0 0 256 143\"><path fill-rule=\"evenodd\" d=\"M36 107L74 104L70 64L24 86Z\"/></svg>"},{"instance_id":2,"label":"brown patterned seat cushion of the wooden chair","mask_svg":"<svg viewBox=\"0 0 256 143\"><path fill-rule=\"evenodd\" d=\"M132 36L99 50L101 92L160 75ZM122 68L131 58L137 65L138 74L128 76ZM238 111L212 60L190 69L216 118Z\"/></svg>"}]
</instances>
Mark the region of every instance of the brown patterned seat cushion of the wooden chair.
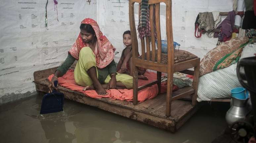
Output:
<instances>
[{"instance_id":1,"label":"brown patterned seat cushion of the wooden chair","mask_svg":"<svg viewBox=\"0 0 256 143\"><path fill-rule=\"evenodd\" d=\"M146 55L147 53L145 54L145 59L147 60ZM155 55L156 55L155 61L157 61L157 51ZM188 51L177 50L177 49L174 50L174 63L190 60L194 58L197 58L197 56L195 56L194 54ZM139 59L142 59L142 57L140 56ZM152 60L152 51L150 51L150 60ZM167 54L161 53L161 63L167 64L167 61L168 61Z\"/></svg>"}]
</instances>

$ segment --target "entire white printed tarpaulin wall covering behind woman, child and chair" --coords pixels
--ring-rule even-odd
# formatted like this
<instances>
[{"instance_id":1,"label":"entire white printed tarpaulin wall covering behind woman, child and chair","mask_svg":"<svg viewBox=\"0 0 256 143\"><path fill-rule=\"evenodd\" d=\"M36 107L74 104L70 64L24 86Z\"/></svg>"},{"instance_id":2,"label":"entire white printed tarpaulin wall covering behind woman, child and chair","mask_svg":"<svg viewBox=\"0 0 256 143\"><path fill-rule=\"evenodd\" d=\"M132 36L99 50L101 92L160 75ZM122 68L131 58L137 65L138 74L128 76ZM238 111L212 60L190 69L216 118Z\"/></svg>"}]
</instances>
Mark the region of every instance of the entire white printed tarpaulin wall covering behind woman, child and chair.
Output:
<instances>
[{"instance_id":1,"label":"entire white printed tarpaulin wall covering behind woman, child and chair","mask_svg":"<svg viewBox=\"0 0 256 143\"><path fill-rule=\"evenodd\" d=\"M47 0L0 1L0 104L35 91L33 72L59 66L79 34L81 20L98 21L101 31L117 49L118 62L124 45L122 34L129 30L128 0L48 0L48 30L45 27ZM214 48L217 38L194 37L198 12L232 11L232 0L173 0L174 41L202 58ZM138 8L138 6L136 7ZM161 34L164 39L165 9L161 4ZM135 13L138 23L138 13ZM222 17L225 18L225 17ZM119 52L119 53L118 53Z\"/></svg>"}]
</instances>

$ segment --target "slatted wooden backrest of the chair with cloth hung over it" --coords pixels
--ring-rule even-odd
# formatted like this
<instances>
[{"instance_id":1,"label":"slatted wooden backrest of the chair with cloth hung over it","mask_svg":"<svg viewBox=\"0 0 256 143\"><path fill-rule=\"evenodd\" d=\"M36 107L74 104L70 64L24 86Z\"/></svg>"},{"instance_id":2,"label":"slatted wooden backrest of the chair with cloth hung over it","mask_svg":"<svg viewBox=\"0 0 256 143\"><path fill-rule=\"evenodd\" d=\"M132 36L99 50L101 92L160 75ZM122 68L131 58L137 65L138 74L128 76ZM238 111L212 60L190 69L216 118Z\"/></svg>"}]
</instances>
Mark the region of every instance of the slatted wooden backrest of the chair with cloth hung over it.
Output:
<instances>
[{"instance_id":1,"label":"slatted wooden backrest of the chair with cloth hung over it","mask_svg":"<svg viewBox=\"0 0 256 143\"><path fill-rule=\"evenodd\" d=\"M139 47L138 47L138 40L137 40L138 36L136 34L136 26L135 26L135 18L134 18L135 2L139 3L139 14L140 14L141 0L129 0L129 5L130 5L129 19L130 19L131 36L132 36L133 58L144 60L144 62L151 61L155 63L161 63L162 45L161 45L161 30L160 30L160 3L163 2L166 4L166 36L167 36L167 55L168 55L167 63L168 65L170 64L173 65L174 64L174 47L173 47L173 34L172 34L172 21L171 21L172 20L171 0L149 0L150 37L146 36L143 39L141 39L142 53L140 58L137 56L139 55L139 49L138 49ZM153 18L155 18L155 23ZM154 36L155 33L156 33L156 38ZM146 44L145 44L145 41L146 41ZM157 49L155 46L156 41L157 41ZM151 49L150 49L150 43L151 43ZM149 51L151 51L151 53ZM154 65L157 66L156 64L153 64L152 66ZM144 68L151 69L152 66L144 67ZM158 68L153 67L152 70L158 71Z\"/></svg>"}]
</instances>

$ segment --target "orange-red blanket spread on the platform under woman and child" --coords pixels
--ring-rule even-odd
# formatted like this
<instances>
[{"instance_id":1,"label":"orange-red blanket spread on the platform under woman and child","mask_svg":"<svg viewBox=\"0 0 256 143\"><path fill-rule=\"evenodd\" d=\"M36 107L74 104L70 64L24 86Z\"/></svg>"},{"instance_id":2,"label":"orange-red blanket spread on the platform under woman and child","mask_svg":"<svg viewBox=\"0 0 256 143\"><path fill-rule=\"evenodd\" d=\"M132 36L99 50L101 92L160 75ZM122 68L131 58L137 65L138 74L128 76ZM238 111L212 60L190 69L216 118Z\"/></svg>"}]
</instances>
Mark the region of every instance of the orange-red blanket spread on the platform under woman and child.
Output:
<instances>
[{"instance_id":1,"label":"orange-red blanket spread on the platform under woman and child","mask_svg":"<svg viewBox=\"0 0 256 143\"><path fill-rule=\"evenodd\" d=\"M91 97L91 98L111 98L111 99L116 99L116 100L126 100L126 101L132 101L133 99L133 89L109 89L107 90L108 95L106 96L101 96L98 95L95 90L86 90L83 91L83 87L79 86L75 83L74 80L74 70L69 69L66 74L64 74L62 77L59 78L59 85L66 87L68 89L78 91L78 92L83 92L85 95ZM156 73L153 72L146 72L144 74L145 76L148 77L148 81L146 80L138 80L138 85L145 85L146 83L149 83L153 80L156 80ZM52 77L54 75L50 75L48 77L48 80L51 81ZM167 82L162 82L161 83L161 93L166 92L167 89ZM177 90L178 87L176 85L173 85L173 90ZM154 98L158 93L158 87L157 84L152 85L151 87L147 87L145 89L142 89L138 91L138 101L143 102L147 99L152 99Z\"/></svg>"}]
</instances>

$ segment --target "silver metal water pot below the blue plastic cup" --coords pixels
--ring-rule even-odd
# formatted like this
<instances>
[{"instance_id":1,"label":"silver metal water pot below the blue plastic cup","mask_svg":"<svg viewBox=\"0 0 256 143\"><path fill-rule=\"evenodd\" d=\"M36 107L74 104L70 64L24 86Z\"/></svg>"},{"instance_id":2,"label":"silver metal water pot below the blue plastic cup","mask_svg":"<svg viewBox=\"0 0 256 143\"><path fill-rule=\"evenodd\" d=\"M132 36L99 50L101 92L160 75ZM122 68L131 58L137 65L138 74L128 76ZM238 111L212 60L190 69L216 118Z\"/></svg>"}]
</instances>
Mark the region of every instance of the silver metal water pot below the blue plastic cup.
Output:
<instances>
[{"instance_id":1,"label":"silver metal water pot below the blue plastic cup","mask_svg":"<svg viewBox=\"0 0 256 143\"><path fill-rule=\"evenodd\" d=\"M245 120L249 110L246 107L247 99L237 99L232 97L232 106L226 113L226 122L231 127L236 121Z\"/></svg>"}]
</instances>

